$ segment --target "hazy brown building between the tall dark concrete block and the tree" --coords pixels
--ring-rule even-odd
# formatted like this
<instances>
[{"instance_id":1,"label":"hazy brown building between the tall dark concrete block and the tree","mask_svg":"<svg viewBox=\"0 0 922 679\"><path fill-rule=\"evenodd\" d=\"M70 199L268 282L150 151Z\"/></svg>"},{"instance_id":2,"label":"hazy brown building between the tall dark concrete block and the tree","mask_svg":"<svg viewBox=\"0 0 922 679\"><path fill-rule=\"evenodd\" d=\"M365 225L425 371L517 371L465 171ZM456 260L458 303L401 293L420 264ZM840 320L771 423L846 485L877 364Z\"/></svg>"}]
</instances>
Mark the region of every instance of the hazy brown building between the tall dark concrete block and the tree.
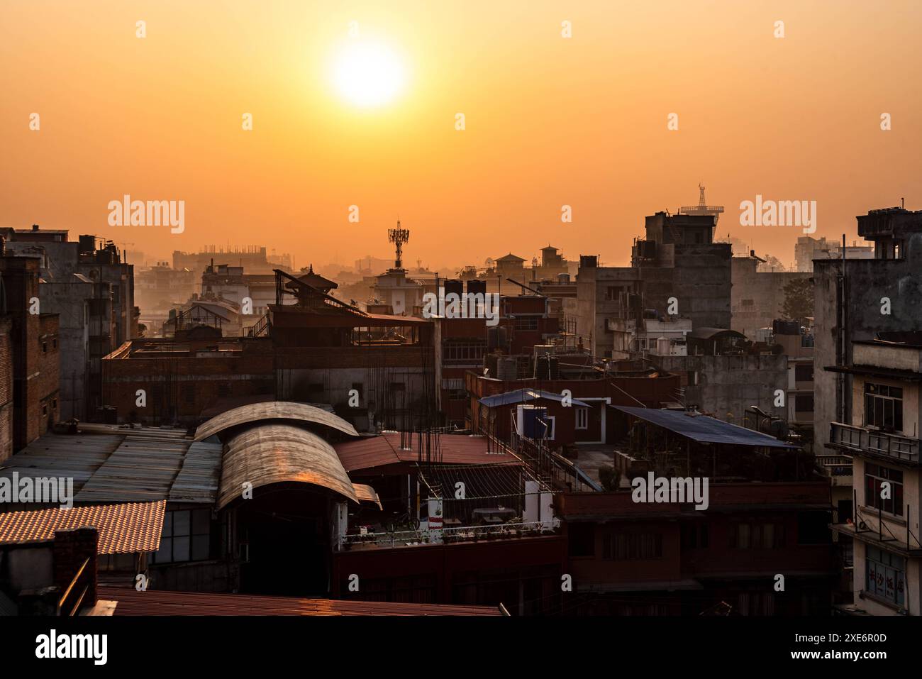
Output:
<instances>
[{"instance_id":1,"label":"hazy brown building between the tall dark concrete block and the tree","mask_svg":"<svg viewBox=\"0 0 922 679\"><path fill-rule=\"evenodd\" d=\"M782 316L785 304L785 286L792 280L810 280L810 272L760 271L764 260L750 253L746 257L733 257L731 273L733 287L730 292L732 318L730 328L757 340L759 330L771 328L772 321Z\"/></svg>"}]
</instances>

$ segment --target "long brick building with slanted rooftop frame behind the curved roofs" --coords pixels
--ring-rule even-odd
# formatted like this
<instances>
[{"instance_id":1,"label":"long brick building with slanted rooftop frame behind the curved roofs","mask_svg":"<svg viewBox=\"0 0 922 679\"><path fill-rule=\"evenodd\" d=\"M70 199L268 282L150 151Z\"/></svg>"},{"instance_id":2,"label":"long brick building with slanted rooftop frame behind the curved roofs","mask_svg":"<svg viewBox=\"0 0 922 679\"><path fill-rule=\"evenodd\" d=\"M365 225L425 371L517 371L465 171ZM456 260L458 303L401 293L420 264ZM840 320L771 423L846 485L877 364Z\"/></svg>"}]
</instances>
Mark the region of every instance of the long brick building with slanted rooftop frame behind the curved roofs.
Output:
<instances>
[{"instance_id":1,"label":"long brick building with slanted rooftop frame behind the curved roofs","mask_svg":"<svg viewBox=\"0 0 922 679\"><path fill-rule=\"evenodd\" d=\"M118 421L192 425L229 404L278 398L325 404L362 431L434 423L431 321L368 314L280 269L277 276L277 304L246 337L200 323L183 337L112 351L104 383Z\"/></svg>"}]
</instances>

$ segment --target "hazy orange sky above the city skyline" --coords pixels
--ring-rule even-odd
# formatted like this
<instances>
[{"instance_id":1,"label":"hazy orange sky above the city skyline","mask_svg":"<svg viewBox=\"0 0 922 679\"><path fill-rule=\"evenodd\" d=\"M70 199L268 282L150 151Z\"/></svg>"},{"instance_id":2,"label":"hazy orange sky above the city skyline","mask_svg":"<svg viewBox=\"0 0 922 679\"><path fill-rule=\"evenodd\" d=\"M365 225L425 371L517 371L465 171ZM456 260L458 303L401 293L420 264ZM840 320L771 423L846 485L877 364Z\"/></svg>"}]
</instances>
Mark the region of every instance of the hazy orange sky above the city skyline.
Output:
<instances>
[{"instance_id":1,"label":"hazy orange sky above the city skyline","mask_svg":"<svg viewBox=\"0 0 922 679\"><path fill-rule=\"evenodd\" d=\"M622 265L644 215L703 181L719 235L789 265L801 230L740 226L740 201L816 200L813 235L849 241L869 208L922 208L920 25L922 3L887 0L3 0L0 226L148 257L258 243L300 267L391 256L399 215L431 267L549 242ZM339 95L349 41L398 55L401 96ZM185 231L110 226L124 194L184 200Z\"/></svg>"}]
</instances>

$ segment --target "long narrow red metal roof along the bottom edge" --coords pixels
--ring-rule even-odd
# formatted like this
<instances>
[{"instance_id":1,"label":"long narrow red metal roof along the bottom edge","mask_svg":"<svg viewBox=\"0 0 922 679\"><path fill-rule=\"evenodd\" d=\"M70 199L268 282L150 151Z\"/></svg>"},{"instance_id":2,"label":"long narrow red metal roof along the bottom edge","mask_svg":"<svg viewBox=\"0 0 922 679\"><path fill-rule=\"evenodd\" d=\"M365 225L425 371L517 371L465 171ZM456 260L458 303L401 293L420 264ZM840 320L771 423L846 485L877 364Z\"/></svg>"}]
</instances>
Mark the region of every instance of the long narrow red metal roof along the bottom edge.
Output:
<instances>
[{"instance_id":1,"label":"long narrow red metal roof along the bottom edge","mask_svg":"<svg viewBox=\"0 0 922 679\"><path fill-rule=\"evenodd\" d=\"M100 602L117 602L113 615L502 615L498 606L356 602L112 587L100 587L98 597Z\"/></svg>"}]
</instances>

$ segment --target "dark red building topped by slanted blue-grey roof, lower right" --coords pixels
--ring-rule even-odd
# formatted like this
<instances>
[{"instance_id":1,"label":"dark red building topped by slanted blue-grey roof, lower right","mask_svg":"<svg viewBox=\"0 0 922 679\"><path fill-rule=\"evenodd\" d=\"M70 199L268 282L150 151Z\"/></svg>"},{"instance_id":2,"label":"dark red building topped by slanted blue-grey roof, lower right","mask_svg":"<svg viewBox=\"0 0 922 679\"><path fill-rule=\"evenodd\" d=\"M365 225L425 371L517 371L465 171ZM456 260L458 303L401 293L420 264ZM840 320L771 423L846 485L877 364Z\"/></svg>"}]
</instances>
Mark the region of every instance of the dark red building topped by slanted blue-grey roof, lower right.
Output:
<instances>
[{"instance_id":1,"label":"dark red building topped by slanted blue-grey roof, lower right","mask_svg":"<svg viewBox=\"0 0 922 679\"><path fill-rule=\"evenodd\" d=\"M703 415L614 410L630 433L615 453L624 489L558 500L575 613L829 613L829 486L809 456ZM687 495L638 504L632 480L677 475L709 478L707 506ZM784 591L772 587L778 573Z\"/></svg>"}]
</instances>

